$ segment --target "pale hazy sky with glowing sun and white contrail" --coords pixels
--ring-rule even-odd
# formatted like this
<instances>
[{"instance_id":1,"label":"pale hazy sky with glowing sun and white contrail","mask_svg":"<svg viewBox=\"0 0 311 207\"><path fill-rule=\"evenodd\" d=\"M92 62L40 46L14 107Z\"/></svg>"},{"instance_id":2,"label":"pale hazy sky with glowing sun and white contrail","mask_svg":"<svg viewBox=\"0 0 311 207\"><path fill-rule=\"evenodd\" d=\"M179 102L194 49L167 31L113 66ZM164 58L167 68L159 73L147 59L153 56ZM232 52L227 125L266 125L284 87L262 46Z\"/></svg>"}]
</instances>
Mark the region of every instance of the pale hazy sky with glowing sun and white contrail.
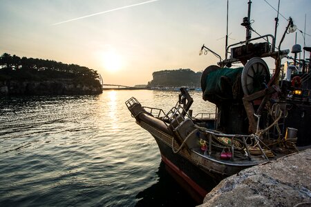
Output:
<instances>
[{"instance_id":1,"label":"pale hazy sky with glowing sun and white contrail","mask_svg":"<svg viewBox=\"0 0 311 207\"><path fill-rule=\"evenodd\" d=\"M245 40L247 2L229 0L229 44ZM277 0L252 0L252 28L274 34L277 8ZM226 12L227 0L0 0L0 55L86 66L106 84L147 84L155 71L215 65L210 52L199 56L203 43L225 57ZM311 46L311 1L281 0L277 44L289 17L301 32L287 34L281 48L295 39L303 47L304 31Z\"/></svg>"}]
</instances>

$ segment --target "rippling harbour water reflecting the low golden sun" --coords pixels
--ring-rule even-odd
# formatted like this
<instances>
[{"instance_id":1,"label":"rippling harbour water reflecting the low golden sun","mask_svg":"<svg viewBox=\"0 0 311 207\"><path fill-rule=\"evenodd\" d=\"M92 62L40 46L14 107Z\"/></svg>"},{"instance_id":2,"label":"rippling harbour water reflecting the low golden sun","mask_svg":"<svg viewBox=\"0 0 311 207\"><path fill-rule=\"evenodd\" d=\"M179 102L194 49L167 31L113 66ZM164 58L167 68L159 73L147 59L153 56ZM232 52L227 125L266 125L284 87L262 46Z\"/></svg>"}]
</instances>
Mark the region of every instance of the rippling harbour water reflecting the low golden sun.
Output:
<instances>
[{"instance_id":1,"label":"rippling harbour water reflecting the low golden sun","mask_svg":"<svg viewBox=\"0 0 311 207\"><path fill-rule=\"evenodd\" d=\"M124 102L168 112L178 91L0 98L0 206L195 206ZM193 114L214 112L194 98Z\"/></svg>"}]
</instances>

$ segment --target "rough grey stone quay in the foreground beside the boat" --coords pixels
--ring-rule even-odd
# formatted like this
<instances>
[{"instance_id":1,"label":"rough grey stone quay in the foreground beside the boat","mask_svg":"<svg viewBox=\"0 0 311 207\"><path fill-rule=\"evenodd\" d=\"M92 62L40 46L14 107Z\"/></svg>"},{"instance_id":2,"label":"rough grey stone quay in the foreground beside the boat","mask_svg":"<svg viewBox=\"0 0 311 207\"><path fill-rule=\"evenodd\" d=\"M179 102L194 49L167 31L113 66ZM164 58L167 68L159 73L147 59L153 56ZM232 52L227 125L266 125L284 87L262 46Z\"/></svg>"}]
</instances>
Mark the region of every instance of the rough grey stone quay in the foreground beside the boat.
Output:
<instances>
[{"instance_id":1,"label":"rough grey stone quay in the foreground beside the boat","mask_svg":"<svg viewBox=\"0 0 311 207\"><path fill-rule=\"evenodd\" d=\"M207 206L311 206L311 149L227 177L200 205Z\"/></svg>"}]
</instances>

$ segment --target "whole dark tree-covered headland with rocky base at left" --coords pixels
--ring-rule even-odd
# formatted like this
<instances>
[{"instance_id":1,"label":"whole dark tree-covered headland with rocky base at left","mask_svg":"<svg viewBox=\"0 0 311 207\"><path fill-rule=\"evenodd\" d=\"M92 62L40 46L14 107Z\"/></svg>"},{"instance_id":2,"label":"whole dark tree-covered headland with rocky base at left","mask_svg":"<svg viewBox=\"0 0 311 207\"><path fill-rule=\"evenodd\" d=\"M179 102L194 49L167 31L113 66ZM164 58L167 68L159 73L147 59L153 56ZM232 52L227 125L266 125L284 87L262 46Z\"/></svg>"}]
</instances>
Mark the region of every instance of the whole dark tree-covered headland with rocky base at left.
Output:
<instances>
[{"instance_id":1,"label":"whole dark tree-covered headland with rocky base at left","mask_svg":"<svg viewBox=\"0 0 311 207\"><path fill-rule=\"evenodd\" d=\"M96 95L102 93L95 70L44 59L0 57L0 95Z\"/></svg>"}]
</instances>

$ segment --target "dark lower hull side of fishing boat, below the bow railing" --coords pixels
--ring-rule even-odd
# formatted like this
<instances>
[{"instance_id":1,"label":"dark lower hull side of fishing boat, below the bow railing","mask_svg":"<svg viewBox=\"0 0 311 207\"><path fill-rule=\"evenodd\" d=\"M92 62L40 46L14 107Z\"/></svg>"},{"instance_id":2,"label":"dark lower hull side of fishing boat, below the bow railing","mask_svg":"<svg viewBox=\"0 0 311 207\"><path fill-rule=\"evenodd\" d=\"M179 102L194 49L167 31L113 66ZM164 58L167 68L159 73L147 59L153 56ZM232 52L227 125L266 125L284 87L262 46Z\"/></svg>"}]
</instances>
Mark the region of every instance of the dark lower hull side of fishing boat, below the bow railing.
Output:
<instances>
[{"instance_id":1,"label":"dark lower hull side of fishing boat, below the bow railing","mask_svg":"<svg viewBox=\"0 0 311 207\"><path fill-rule=\"evenodd\" d=\"M174 153L171 135L142 120L137 124L151 133L160 149L162 161L166 164L170 174L198 203L201 203L205 195L222 179L249 167L217 162L202 157L198 153L188 152L186 149ZM176 148L174 150L176 151Z\"/></svg>"}]
</instances>

